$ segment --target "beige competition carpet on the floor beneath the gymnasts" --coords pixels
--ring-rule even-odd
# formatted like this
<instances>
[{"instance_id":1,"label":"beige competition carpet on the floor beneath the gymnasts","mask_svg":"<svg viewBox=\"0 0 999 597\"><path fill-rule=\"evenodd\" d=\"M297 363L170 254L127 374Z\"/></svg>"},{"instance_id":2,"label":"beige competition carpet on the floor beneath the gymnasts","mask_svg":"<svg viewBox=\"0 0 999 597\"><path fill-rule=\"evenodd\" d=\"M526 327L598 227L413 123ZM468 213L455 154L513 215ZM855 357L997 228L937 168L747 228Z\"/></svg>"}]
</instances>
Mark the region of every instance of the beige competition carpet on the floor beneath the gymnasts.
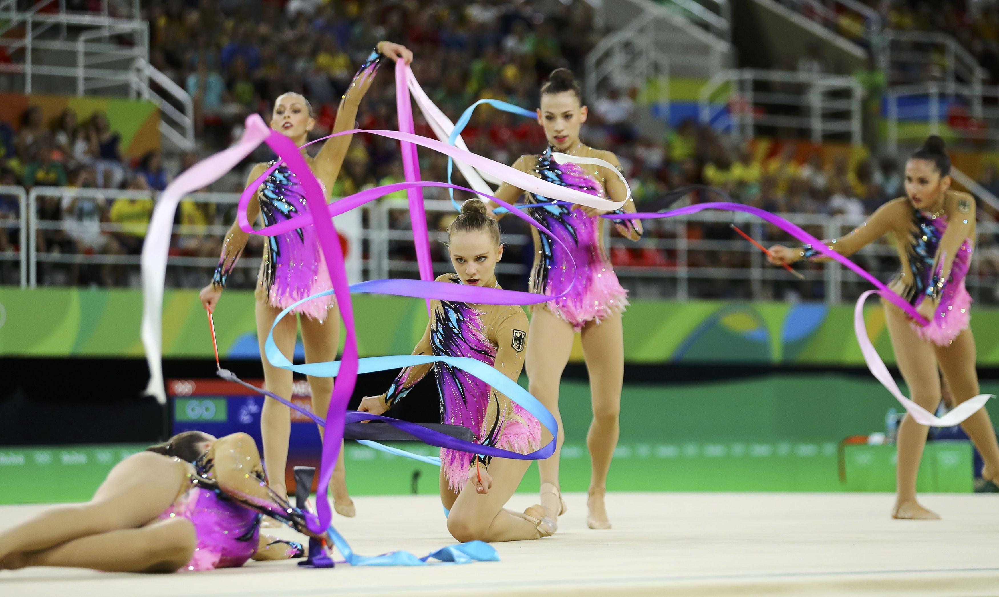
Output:
<instances>
[{"instance_id":1,"label":"beige competition carpet on the floor beneath the gymnasts","mask_svg":"<svg viewBox=\"0 0 999 597\"><path fill-rule=\"evenodd\" d=\"M534 496L516 494L522 509ZM926 494L940 521L897 521L888 494L613 493L614 528L585 527L567 494L559 532L500 543L500 562L406 568L295 562L170 575L28 568L0 595L999 595L999 496ZM338 529L361 554L423 556L453 543L434 496L355 498ZM0 507L0 528L39 506ZM279 534L296 535L289 529Z\"/></svg>"}]
</instances>

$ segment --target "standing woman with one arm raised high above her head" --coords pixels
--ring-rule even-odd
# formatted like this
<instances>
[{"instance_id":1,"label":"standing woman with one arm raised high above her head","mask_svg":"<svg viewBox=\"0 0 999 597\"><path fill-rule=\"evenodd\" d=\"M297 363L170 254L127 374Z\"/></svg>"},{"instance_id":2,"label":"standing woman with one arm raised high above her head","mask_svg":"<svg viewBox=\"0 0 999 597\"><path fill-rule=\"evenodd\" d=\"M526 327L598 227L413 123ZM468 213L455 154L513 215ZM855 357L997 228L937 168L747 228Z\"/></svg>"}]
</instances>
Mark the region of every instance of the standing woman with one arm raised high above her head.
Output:
<instances>
[{"instance_id":1,"label":"standing woman with one arm raised high above her head","mask_svg":"<svg viewBox=\"0 0 999 597\"><path fill-rule=\"evenodd\" d=\"M405 60L407 64L413 60L413 53L406 47L387 41L379 42L376 51L369 56L368 61L355 75L340 103L334 124L335 133L350 130L354 126L358 106L375 80L382 55ZM312 106L302 95L286 93L275 101L271 128L291 138L297 145L306 143L309 131L315 124ZM310 168L325 189L333 188L350 146L351 137L352 135L344 135L328 140L315 158L305 155ZM256 181L272 165L273 162L257 164L247 179L247 185ZM258 215L263 213L265 223L271 225L307 211L302 183L286 165L282 164L267 177L254 194L247 210L247 217L250 222L254 222ZM225 288L226 279L232 273L249 237L248 233L240 229L238 222L233 224L226 235L222 258L212 276L212 282L201 290L201 302L209 312L215 310ZM265 386L269 391L286 399L291 399L292 396L292 372L275 367L263 356L264 343L274 320L284 308L296 301L331 288L330 274L314 228L306 227L268 238L264 261L258 274L256 314ZM302 326L306 362L336 360L340 319L336 315L334 297L331 295L309 301L297 307L295 312L300 315L299 323ZM274 329L274 340L285 354L294 352L297 335L298 326L295 317L283 319ZM312 390L313 412L325 418L333 393L333 379L309 376L309 387ZM261 414L261 434L268 479L276 491L282 496L287 496L285 466L288 461L288 441L291 434L289 408L276 400L265 399L264 411ZM347 492L343 457L337 461L330 487L336 511L343 516L354 516L356 509Z\"/></svg>"}]
</instances>

